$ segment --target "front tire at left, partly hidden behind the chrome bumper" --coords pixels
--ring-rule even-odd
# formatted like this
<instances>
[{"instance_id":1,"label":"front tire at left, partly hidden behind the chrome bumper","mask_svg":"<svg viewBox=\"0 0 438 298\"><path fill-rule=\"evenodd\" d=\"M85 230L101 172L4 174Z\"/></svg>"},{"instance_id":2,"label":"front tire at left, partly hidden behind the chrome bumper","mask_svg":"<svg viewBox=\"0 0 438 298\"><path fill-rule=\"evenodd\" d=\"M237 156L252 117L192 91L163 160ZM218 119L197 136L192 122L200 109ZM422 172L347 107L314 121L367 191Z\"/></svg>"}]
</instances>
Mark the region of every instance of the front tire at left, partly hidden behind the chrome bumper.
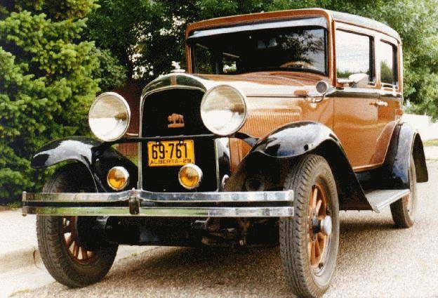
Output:
<instances>
[{"instance_id":1,"label":"front tire at left, partly hidden behind the chrome bumper","mask_svg":"<svg viewBox=\"0 0 438 298\"><path fill-rule=\"evenodd\" d=\"M95 190L88 177L79 164L67 164L55 171L43 192L92 193ZM51 276L67 287L85 287L102 280L117 254L117 245L109 244L87 251L77 238L77 219L77 216L36 216L41 259Z\"/></svg>"}]
</instances>

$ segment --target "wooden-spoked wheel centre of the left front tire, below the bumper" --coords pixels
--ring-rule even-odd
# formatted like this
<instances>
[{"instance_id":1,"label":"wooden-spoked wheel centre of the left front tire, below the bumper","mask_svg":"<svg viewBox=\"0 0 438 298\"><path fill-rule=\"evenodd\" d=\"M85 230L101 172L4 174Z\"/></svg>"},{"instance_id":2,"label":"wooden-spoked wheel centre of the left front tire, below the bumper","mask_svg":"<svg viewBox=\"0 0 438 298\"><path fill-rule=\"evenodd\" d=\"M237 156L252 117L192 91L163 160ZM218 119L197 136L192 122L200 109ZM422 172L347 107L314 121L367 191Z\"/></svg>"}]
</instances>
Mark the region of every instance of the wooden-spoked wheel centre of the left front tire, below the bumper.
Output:
<instances>
[{"instance_id":1,"label":"wooden-spoked wheel centre of the left front tire, below the bumper","mask_svg":"<svg viewBox=\"0 0 438 298\"><path fill-rule=\"evenodd\" d=\"M62 239L64 239L64 245L74 261L79 264L91 264L94 259L94 253L86 250L80 244L76 222L76 216L62 217Z\"/></svg>"}]
</instances>

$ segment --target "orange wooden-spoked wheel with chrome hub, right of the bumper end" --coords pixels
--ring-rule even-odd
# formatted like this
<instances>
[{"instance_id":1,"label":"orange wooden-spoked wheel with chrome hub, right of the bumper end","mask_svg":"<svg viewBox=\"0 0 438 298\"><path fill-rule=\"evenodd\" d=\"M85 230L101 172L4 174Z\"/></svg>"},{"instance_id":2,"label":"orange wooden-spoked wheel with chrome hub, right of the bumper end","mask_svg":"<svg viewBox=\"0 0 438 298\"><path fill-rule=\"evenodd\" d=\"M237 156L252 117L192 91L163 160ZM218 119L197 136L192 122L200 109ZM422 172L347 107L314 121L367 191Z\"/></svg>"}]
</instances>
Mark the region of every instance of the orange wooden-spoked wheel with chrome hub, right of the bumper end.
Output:
<instances>
[{"instance_id":1,"label":"orange wooden-spoked wheel with chrome hub, right of the bumper end","mask_svg":"<svg viewBox=\"0 0 438 298\"><path fill-rule=\"evenodd\" d=\"M315 183L307 209L307 255L315 271L320 271L326 261L328 243L331 239L332 222L327 197L323 186Z\"/></svg>"}]
</instances>

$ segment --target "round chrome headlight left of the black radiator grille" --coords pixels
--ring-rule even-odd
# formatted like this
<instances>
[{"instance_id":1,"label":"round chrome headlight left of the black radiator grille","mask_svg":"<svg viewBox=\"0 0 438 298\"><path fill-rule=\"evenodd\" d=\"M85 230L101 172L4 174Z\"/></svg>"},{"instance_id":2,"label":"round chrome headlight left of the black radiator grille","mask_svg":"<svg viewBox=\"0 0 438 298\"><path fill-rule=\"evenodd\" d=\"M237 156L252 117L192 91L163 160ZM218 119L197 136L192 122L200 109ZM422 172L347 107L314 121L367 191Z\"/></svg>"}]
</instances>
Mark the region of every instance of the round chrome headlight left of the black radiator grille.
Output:
<instances>
[{"instance_id":1,"label":"round chrome headlight left of the black radiator grille","mask_svg":"<svg viewBox=\"0 0 438 298\"><path fill-rule=\"evenodd\" d=\"M124 136L131 120L131 110L125 99L114 92L98 96L88 112L91 132L100 141L110 142Z\"/></svg>"}]
</instances>

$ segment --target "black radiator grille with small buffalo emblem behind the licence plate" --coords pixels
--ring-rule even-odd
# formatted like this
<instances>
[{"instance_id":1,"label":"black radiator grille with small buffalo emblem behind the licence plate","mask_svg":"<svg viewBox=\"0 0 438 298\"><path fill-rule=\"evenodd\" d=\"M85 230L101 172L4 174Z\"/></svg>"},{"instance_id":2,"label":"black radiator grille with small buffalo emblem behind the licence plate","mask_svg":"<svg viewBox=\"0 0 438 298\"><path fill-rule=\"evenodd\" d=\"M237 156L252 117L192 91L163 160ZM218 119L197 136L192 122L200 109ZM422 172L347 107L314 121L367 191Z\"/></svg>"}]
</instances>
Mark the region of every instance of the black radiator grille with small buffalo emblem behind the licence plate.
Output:
<instances>
[{"instance_id":1,"label":"black radiator grille with small buffalo emblem behind the licence plate","mask_svg":"<svg viewBox=\"0 0 438 298\"><path fill-rule=\"evenodd\" d=\"M142 110L142 136L188 136L211 134L204 126L199 107L203 93L190 89L168 89L145 98ZM182 115L184 127L169 128L168 116ZM216 157L213 138L193 138L194 157L204 179L198 191L217 190ZM154 192L189 192L178 181L180 167L149 167L147 143L142 143L142 186Z\"/></svg>"}]
</instances>

